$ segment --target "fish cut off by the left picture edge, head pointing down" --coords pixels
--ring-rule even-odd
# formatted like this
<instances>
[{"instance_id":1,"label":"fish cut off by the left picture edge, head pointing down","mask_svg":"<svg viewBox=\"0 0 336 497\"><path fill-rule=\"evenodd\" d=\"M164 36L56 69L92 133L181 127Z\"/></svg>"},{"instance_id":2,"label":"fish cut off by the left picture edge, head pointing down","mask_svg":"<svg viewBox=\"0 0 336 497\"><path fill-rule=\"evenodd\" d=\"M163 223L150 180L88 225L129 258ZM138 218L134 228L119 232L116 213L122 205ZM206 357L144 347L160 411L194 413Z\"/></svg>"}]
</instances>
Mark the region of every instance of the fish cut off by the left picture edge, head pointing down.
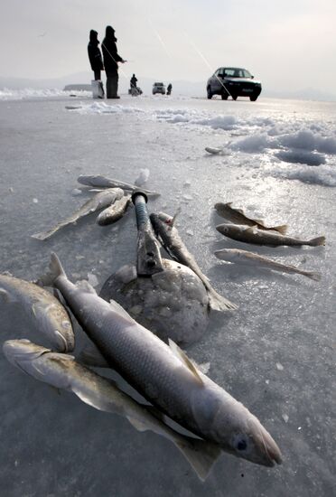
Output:
<instances>
[{"instance_id":1,"label":"fish cut off by the left picture edge, head pointing down","mask_svg":"<svg viewBox=\"0 0 336 497\"><path fill-rule=\"evenodd\" d=\"M71 352L75 335L69 314L50 292L24 279L0 275L0 302L21 305L24 314L51 346L60 352Z\"/></svg>"}]
</instances>

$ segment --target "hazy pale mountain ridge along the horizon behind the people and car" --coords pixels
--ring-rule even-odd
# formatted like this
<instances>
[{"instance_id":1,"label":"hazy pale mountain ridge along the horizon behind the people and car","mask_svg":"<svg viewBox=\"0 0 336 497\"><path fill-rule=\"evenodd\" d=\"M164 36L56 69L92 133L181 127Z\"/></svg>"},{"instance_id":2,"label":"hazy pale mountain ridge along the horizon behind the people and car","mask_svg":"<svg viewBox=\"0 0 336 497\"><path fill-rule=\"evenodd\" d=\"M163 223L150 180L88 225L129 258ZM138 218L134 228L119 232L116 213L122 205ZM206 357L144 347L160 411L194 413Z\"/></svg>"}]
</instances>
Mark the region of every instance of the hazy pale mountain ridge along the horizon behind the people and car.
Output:
<instances>
[{"instance_id":1,"label":"hazy pale mountain ridge along the horizon behind the people and car","mask_svg":"<svg viewBox=\"0 0 336 497\"><path fill-rule=\"evenodd\" d=\"M91 71L78 72L69 76L54 78L48 80L30 80L27 78L11 78L0 77L0 89L64 89L66 85L88 85L92 79ZM105 81L105 74L103 74ZM152 93L152 86L157 78L141 78L138 76L138 86L145 94ZM159 78L160 80L160 78ZM173 94L185 95L188 97L205 97L206 81L185 81L185 80L167 80L164 84L172 83ZM129 88L129 81L120 76L119 90L121 93L126 93ZM306 88L298 90L275 90L264 88L261 94L263 97L269 98L291 98L299 100L320 100L320 101L336 101L336 94L324 92L320 89Z\"/></svg>"}]
</instances>

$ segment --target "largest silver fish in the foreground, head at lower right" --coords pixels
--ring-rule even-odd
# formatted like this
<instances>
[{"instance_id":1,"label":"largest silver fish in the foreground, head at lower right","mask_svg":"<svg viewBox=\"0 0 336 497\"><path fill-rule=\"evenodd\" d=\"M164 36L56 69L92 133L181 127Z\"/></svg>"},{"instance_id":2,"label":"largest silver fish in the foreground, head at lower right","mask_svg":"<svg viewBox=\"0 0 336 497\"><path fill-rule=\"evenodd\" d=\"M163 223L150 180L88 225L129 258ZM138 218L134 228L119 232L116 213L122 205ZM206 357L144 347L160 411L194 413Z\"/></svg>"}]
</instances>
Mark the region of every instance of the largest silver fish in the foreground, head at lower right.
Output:
<instances>
[{"instance_id":1,"label":"largest silver fish in the foreground, head at lower right","mask_svg":"<svg viewBox=\"0 0 336 497\"><path fill-rule=\"evenodd\" d=\"M266 466L281 463L278 446L257 417L197 370L177 345L166 345L92 287L73 285L55 254L41 282L60 290L110 366L156 408L230 454Z\"/></svg>"}]
</instances>

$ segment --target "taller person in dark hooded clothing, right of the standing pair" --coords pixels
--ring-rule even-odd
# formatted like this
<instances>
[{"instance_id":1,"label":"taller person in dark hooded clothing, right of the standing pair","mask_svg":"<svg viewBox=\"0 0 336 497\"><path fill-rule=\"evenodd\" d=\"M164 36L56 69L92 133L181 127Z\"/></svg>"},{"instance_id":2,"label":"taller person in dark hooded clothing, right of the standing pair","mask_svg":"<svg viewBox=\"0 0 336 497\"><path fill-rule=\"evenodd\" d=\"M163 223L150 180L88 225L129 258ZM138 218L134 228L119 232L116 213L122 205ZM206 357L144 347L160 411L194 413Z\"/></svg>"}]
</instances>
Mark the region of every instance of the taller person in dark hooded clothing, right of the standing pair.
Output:
<instances>
[{"instance_id":1,"label":"taller person in dark hooded clothing, right of the standing pair","mask_svg":"<svg viewBox=\"0 0 336 497\"><path fill-rule=\"evenodd\" d=\"M107 26L105 38L101 44L105 72L107 73L107 98L120 98L117 95L117 82L119 80L117 63L125 61L117 53L116 42L115 30L112 26Z\"/></svg>"}]
</instances>

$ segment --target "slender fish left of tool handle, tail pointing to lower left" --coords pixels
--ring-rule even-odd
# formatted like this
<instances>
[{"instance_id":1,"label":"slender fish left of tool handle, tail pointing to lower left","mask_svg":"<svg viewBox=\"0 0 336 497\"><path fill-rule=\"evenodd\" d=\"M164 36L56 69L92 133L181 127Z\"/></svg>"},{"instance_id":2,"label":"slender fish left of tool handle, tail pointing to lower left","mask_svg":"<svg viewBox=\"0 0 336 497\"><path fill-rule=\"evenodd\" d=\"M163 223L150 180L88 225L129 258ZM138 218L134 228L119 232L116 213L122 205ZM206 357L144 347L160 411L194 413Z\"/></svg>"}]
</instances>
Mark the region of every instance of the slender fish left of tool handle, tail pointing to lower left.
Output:
<instances>
[{"instance_id":1,"label":"slender fish left of tool handle, tail pointing to lower left","mask_svg":"<svg viewBox=\"0 0 336 497\"><path fill-rule=\"evenodd\" d=\"M71 214L66 220L61 220L54 228L48 231L42 231L41 233L35 233L32 235L33 239L50 239L58 230L68 226L69 224L75 224L79 219L88 216L92 212L100 211L111 205L111 203L116 202L124 196L124 191L121 188L108 188L103 192L98 192L97 195L85 202L78 211Z\"/></svg>"}]
</instances>

